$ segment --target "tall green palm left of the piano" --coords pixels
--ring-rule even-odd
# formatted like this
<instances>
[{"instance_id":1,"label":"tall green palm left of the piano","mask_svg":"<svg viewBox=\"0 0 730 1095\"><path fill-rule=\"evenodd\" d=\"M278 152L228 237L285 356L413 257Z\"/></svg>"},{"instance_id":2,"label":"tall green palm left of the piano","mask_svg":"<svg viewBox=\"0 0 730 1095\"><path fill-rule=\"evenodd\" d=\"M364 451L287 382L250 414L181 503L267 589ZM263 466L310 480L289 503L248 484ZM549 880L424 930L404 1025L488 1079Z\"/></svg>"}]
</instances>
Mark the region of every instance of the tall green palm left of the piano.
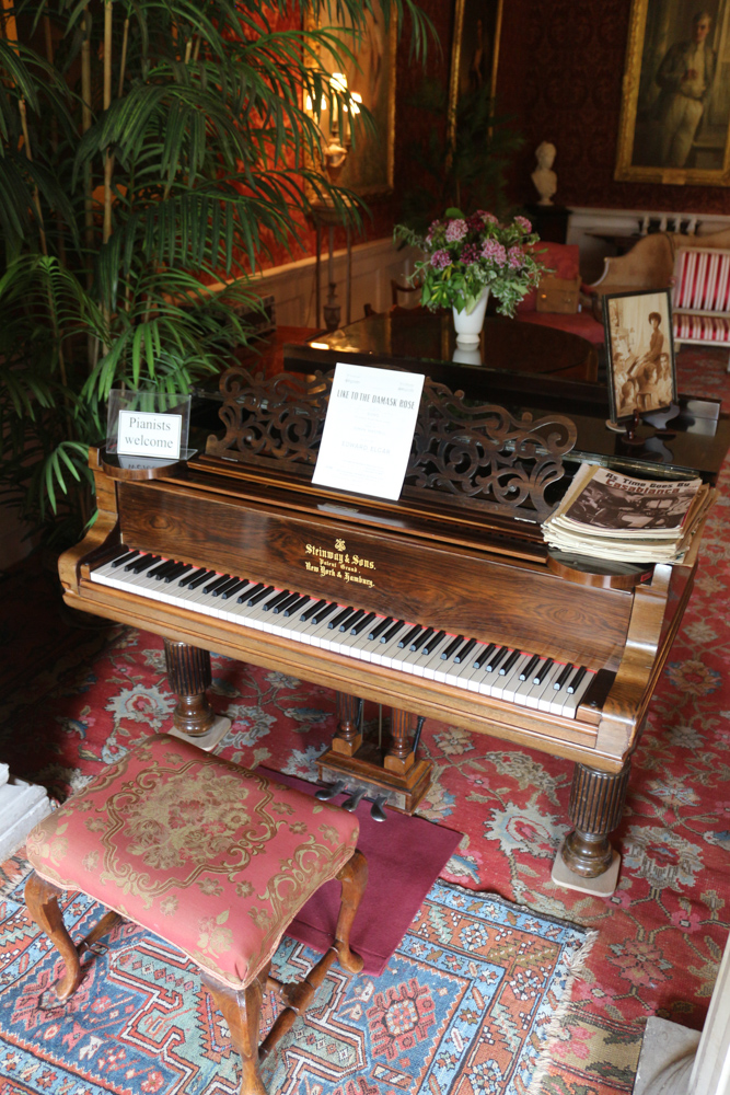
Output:
<instances>
[{"instance_id":1,"label":"tall green palm left of the piano","mask_svg":"<svg viewBox=\"0 0 730 1095\"><path fill-rule=\"evenodd\" d=\"M93 519L86 448L113 388L187 392L246 343L252 277L302 246L312 198L357 220L306 166L304 104L346 95L321 50L357 50L373 9L408 14L422 54L415 0L3 4L0 489L34 526L68 543Z\"/></svg>"}]
</instances>

